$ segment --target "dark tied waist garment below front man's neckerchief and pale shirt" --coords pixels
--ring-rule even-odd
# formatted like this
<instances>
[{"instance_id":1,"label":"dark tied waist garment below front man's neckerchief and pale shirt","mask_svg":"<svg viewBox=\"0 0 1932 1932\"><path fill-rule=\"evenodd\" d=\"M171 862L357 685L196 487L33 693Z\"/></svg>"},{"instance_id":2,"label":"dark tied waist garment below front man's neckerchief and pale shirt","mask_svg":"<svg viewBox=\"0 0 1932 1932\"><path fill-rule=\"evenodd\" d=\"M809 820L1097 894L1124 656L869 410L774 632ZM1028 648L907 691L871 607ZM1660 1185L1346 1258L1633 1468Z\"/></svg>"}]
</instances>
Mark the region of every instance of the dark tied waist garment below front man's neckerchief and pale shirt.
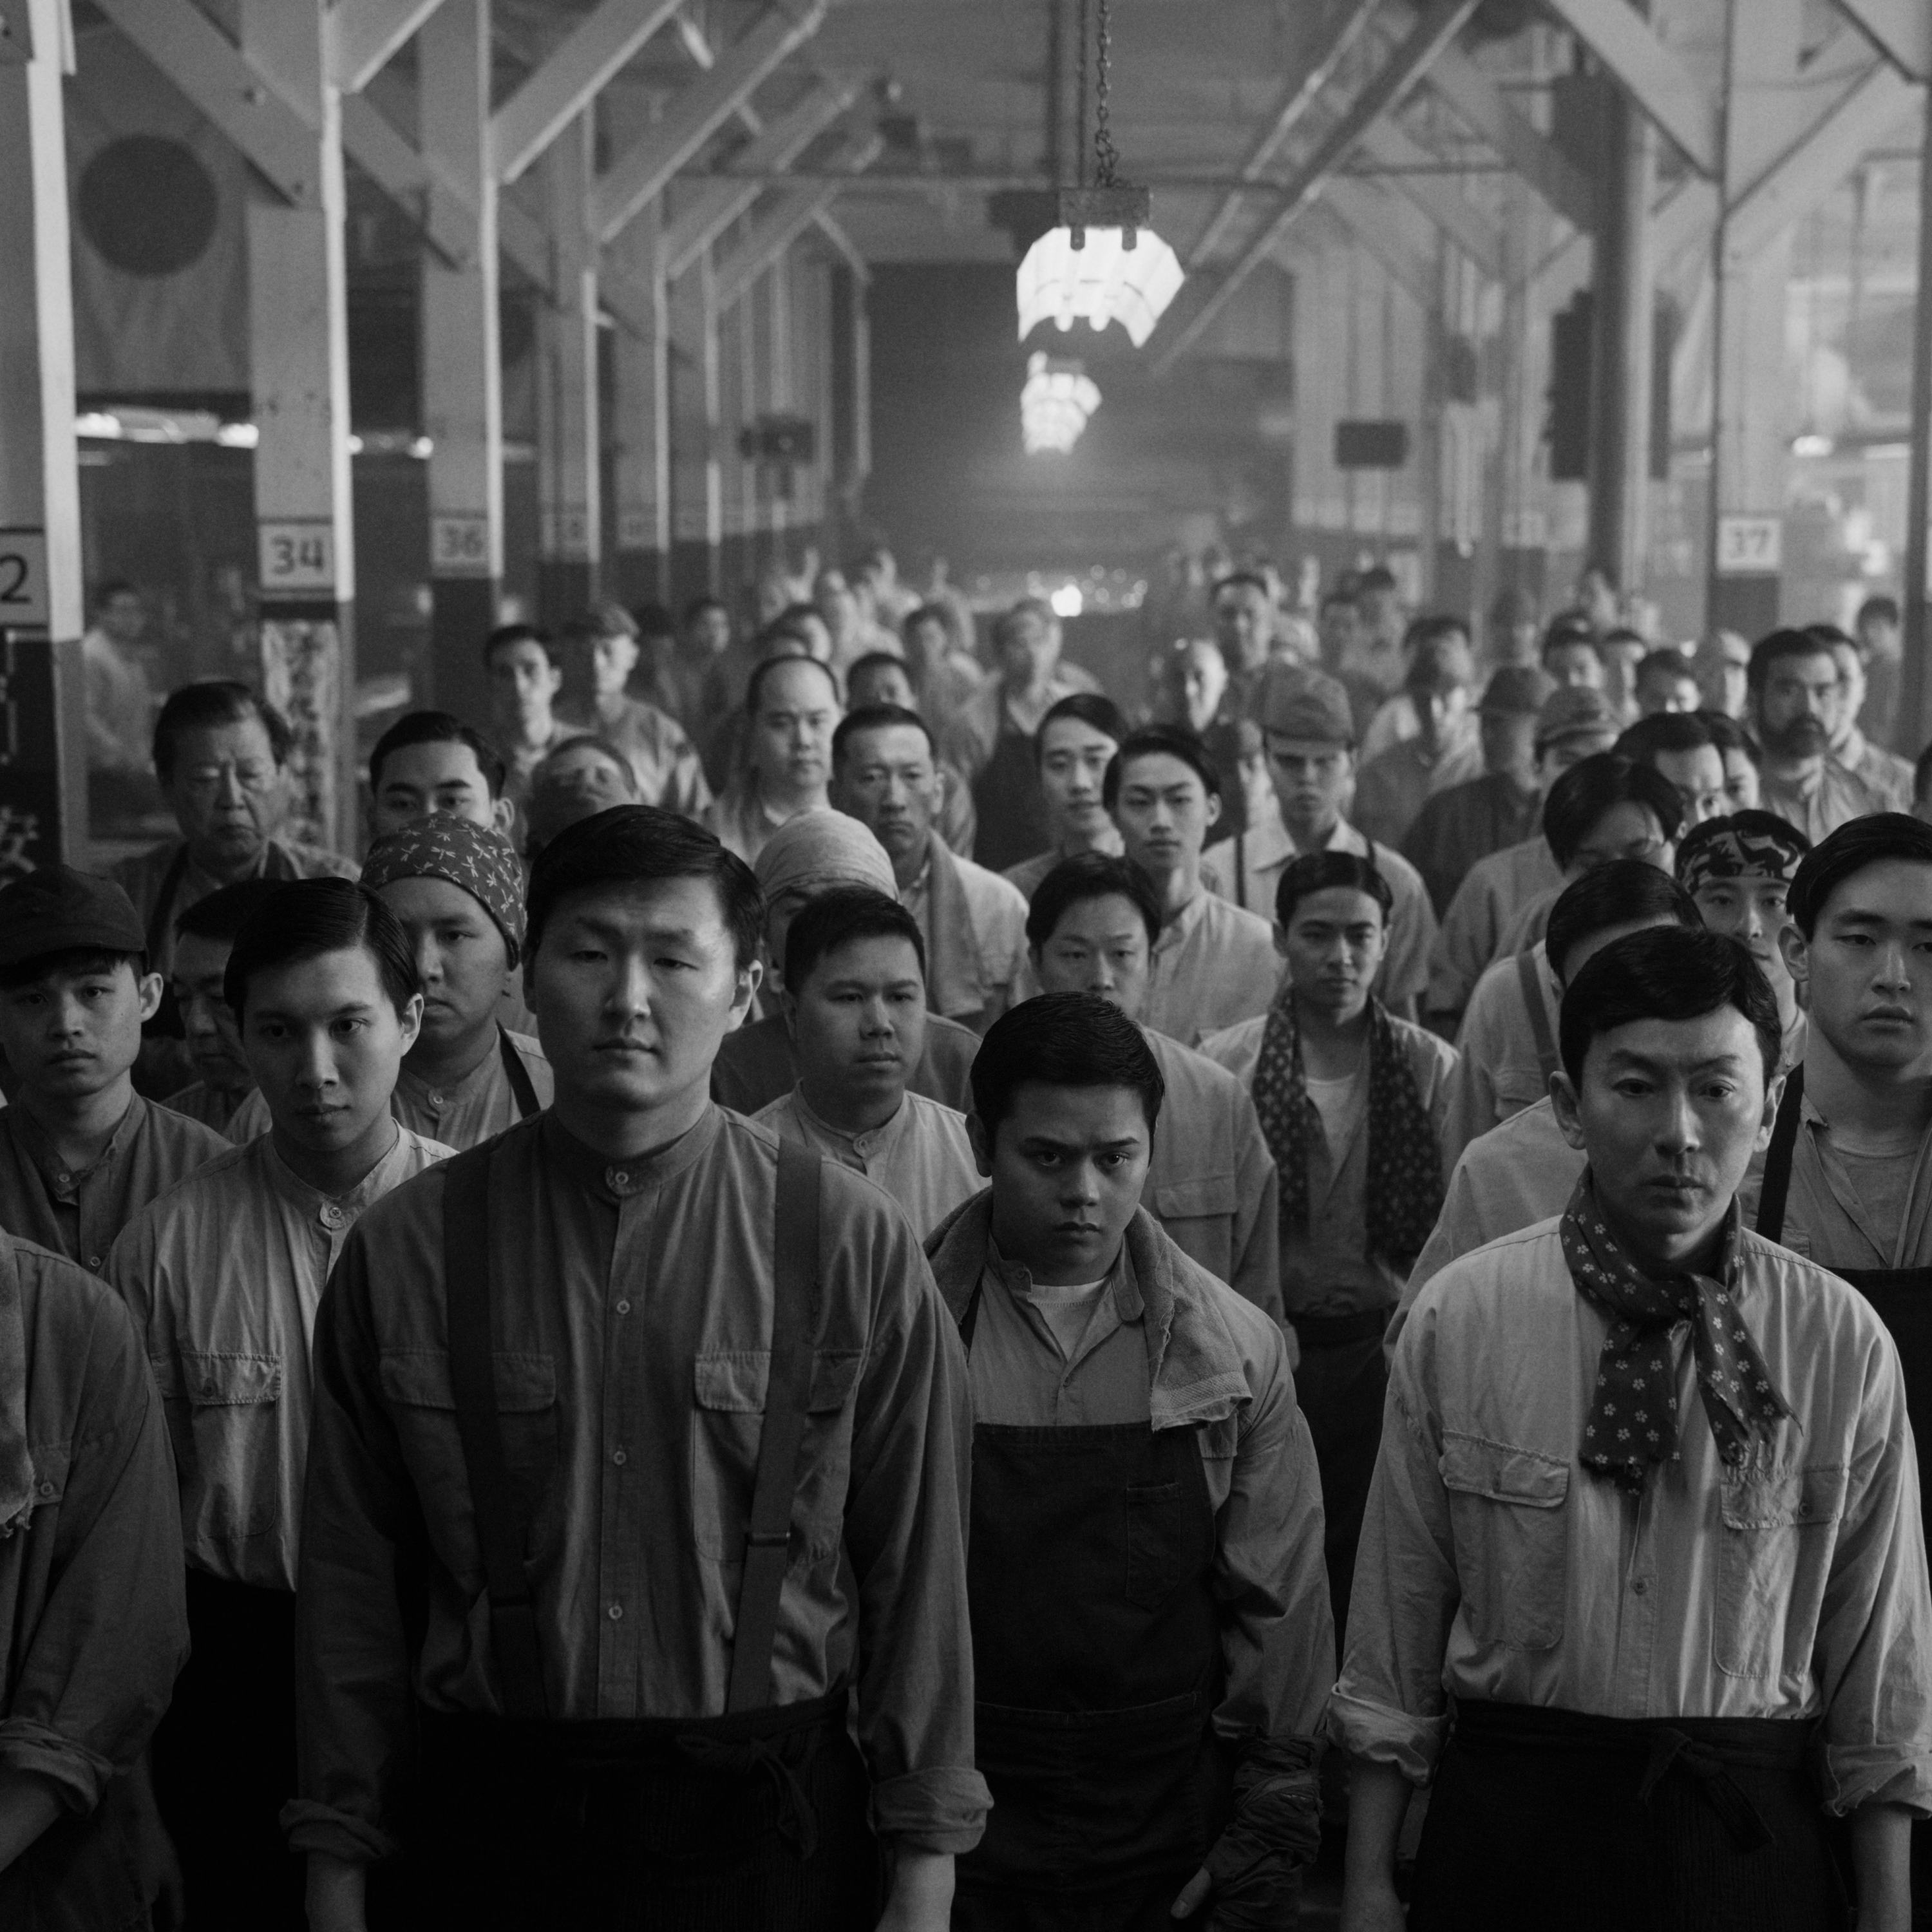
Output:
<instances>
[{"instance_id":1,"label":"dark tied waist garment below front man's neckerchief and pale shirt","mask_svg":"<svg viewBox=\"0 0 1932 1932\"><path fill-rule=\"evenodd\" d=\"M1408 1932L1837 1932L1810 1725L1459 1704Z\"/></svg>"}]
</instances>

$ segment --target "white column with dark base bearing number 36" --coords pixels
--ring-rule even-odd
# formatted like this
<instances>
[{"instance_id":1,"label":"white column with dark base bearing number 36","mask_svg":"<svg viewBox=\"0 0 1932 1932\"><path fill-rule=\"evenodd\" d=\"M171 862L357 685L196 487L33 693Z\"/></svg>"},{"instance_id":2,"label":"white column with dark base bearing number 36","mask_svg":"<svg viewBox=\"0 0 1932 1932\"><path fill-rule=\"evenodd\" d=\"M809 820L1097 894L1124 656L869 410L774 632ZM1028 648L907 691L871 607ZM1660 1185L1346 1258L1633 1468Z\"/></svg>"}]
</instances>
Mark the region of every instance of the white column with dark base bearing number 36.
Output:
<instances>
[{"instance_id":1,"label":"white column with dark base bearing number 36","mask_svg":"<svg viewBox=\"0 0 1932 1932\"><path fill-rule=\"evenodd\" d=\"M475 203L475 251L450 267L423 249L423 429L429 435L429 690L460 717L489 715L481 645L502 591L502 350L497 317L497 170L489 153L491 0L444 0L417 43L423 158Z\"/></svg>"}]
</instances>

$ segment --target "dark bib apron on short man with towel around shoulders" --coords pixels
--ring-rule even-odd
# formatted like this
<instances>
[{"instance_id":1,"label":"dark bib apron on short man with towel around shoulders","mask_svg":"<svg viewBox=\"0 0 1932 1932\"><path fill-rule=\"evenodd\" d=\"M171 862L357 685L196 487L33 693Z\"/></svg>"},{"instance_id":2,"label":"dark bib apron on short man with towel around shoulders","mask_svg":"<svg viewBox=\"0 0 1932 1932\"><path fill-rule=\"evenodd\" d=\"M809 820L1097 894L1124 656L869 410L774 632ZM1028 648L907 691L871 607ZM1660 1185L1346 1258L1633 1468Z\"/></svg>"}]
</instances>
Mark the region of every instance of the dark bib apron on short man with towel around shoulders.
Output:
<instances>
[{"instance_id":1,"label":"dark bib apron on short man with towel around shoulders","mask_svg":"<svg viewBox=\"0 0 1932 1932\"><path fill-rule=\"evenodd\" d=\"M974 1291L960 1321L972 1349ZM974 1735L993 1793L958 1861L960 1924L999 1893L1076 1901L1130 1880L1173 1891L1227 1822L1213 1739L1221 1619L1196 1430L980 1422L966 1598Z\"/></svg>"}]
</instances>

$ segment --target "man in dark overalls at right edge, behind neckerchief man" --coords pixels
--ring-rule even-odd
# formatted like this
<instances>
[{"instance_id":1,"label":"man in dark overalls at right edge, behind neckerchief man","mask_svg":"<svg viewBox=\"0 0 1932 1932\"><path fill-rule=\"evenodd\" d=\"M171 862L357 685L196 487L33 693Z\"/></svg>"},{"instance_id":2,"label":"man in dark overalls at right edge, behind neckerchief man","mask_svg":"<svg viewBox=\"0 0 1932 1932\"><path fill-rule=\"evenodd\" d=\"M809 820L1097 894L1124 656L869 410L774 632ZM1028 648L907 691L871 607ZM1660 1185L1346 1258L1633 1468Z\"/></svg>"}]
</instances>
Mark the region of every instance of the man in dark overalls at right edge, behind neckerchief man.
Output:
<instances>
[{"instance_id":1,"label":"man in dark overalls at right edge, behind neckerchief man","mask_svg":"<svg viewBox=\"0 0 1932 1932\"><path fill-rule=\"evenodd\" d=\"M1808 1028L1764 1157L1758 1233L1843 1277L1905 1364L1932 1443L1932 825L1886 811L1804 854L1779 935ZM1913 1832L1920 1911L1932 1833Z\"/></svg>"}]
</instances>

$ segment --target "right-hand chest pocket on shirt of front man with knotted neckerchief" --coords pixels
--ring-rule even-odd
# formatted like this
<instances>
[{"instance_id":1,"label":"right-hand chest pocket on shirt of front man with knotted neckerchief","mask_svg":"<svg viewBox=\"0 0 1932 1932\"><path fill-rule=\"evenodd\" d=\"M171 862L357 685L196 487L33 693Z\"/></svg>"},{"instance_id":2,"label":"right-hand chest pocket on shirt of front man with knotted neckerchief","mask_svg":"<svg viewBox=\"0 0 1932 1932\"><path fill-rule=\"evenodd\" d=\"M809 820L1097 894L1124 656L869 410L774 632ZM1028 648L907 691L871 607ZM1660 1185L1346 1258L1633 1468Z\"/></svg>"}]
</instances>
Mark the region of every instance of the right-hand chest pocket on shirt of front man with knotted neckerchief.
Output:
<instances>
[{"instance_id":1,"label":"right-hand chest pocket on shirt of front man with knotted neckerchief","mask_svg":"<svg viewBox=\"0 0 1932 1932\"><path fill-rule=\"evenodd\" d=\"M1810 1669L1845 1484L1830 1466L1723 1474L1712 1658L1725 1677Z\"/></svg>"}]
</instances>

